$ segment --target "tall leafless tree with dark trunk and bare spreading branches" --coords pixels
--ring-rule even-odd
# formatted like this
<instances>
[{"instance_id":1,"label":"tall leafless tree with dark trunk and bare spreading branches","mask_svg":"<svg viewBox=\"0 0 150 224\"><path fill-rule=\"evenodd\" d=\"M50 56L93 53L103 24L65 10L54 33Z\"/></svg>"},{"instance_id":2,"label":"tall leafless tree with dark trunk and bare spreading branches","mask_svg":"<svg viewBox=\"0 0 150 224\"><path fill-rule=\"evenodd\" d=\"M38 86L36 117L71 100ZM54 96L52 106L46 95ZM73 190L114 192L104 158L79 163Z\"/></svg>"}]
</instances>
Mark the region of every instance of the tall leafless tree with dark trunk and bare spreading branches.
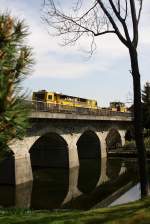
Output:
<instances>
[{"instance_id":1,"label":"tall leafless tree with dark trunk and bare spreading branches","mask_svg":"<svg viewBox=\"0 0 150 224\"><path fill-rule=\"evenodd\" d=\"M143 0L44 0L44 20L63 37L64 45L74 44L81 37L90 36L91 53L95 37L115 34L129 51L134 92L134 126L138 151L141 197L148 195L146 150L144 146L141 108L141 84L138 65L138 36ZM62 8L63 6L63 8ZM110 37L111 38L111 37Z\"/></svg>"}]
</instances>

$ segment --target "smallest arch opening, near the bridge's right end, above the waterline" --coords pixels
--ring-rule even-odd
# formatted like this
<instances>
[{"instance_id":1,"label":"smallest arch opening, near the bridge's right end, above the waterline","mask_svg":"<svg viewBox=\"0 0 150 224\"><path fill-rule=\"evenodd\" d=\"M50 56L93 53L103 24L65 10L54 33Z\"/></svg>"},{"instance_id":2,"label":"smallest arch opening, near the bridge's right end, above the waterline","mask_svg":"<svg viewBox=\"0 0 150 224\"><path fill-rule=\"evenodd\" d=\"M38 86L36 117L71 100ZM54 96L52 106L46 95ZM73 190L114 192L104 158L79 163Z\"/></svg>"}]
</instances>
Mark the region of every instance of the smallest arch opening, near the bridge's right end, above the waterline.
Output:
<instances>
[{"instance_id":1,"label":"smallest arch opening, near the bridge's right end, above the waterline","mask_svg":"<svg viewBox=\"0 0 150 224\"><path fill-rule=\"evenodd\" d=\"M119 131L111 129L106 137L107 150L116 149L122 146L122 140Z\"/></svg>"}]
</instances>

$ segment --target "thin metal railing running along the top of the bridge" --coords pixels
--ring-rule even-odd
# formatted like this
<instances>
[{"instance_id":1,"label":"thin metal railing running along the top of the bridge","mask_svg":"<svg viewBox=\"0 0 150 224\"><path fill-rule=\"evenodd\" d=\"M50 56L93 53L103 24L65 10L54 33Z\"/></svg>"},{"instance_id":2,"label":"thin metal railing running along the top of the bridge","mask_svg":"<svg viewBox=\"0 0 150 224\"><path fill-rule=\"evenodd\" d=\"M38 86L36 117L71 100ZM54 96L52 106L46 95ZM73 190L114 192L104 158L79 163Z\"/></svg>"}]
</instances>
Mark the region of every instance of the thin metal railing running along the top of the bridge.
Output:
<instances>
[{"instance_id":1,"label":"thin metal railing running along the top of the bridge","mask_svg":"<svg viewBox=\"0 0 150 224\"><path fill-rule=\"evenodd\" d=\"M79 115L95 115L95 116L125 116L132 117L131 112L111 111L103 108L82 108L68 105L45 103L43 101L25 101L32 111L50 112L50 113L67 113Z\"/></svg>"}]
</instances>

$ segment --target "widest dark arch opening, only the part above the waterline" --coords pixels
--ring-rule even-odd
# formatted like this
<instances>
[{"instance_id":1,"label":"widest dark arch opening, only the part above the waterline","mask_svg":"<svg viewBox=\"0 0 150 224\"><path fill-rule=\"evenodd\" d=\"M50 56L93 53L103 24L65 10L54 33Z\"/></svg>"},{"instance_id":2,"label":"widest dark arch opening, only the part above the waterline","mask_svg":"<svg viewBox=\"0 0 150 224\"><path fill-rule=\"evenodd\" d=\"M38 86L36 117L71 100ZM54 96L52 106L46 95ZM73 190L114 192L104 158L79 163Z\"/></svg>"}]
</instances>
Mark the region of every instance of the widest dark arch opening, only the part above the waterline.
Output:
<instances>
[{"instance_id":1,"label":"widest dark arch opening, only the part above the waterline","mask_svg":"<svg viewBox=\"0 0 150 224\"><path fill-rule=\"evenodd\" d=\"M31 164L38 167L68 167L66 141L49 132L36 140L30 149Z\"/></svg>"}]
</instances>

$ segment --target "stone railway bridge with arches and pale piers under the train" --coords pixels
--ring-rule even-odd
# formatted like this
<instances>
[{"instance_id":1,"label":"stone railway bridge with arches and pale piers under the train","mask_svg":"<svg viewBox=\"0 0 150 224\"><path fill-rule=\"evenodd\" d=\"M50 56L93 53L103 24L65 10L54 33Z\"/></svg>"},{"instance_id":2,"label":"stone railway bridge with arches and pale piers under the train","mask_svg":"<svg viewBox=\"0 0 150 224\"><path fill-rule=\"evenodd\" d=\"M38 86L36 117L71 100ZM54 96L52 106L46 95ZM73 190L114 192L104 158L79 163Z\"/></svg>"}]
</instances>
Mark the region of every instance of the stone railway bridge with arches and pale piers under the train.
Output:
<instances>
[{"instance_id":1,"label":"stone railway bridge with arches and pale piers under the train","mask_svg":"<svg viewBox=\"0 0 150 224\"><path fill-rule=\"evenodd\" d=\"M107 157L110 147L124 145L132 120L131 113L34 107L26 136L10 144L15 184L32 180L34 166L73 168L84 158Z\"/></svg>"}]
</instances>

